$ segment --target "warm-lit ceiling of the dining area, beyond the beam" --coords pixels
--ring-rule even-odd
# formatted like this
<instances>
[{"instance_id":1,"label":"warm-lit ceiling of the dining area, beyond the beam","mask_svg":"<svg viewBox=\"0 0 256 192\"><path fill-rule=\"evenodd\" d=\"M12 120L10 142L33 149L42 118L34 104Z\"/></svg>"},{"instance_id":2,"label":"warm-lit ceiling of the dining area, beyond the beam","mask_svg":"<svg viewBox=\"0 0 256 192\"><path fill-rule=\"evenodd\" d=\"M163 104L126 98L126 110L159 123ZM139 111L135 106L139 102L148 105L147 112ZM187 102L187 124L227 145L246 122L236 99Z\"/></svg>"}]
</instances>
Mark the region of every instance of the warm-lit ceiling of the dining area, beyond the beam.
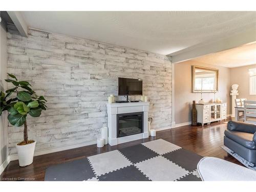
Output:
<instances>
[{"instance_id":1,"label":"warm-lit ceiling of the dining area, beyond the beam","mask_svg":"<svg viewBox=\"0 0 256 192\"><path fill-rule=\"evenodd\" d=\"M228 68L253 65L256 64L256 42L191 60Z\"/></svg>"}]
</instances>

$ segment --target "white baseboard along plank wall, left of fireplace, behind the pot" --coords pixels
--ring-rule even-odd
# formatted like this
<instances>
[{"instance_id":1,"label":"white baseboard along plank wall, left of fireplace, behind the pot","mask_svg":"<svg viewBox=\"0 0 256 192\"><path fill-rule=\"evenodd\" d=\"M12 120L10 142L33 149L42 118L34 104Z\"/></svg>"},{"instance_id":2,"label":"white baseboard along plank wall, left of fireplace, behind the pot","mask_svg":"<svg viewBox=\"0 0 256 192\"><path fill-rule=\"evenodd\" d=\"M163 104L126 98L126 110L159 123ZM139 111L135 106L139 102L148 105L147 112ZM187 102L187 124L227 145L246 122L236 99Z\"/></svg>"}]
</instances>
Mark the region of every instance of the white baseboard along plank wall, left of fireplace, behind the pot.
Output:
<instances>
[{"instance_id":1,"label":"white baseboard along plank wall, left of fireplace, behind the pot","mask_svg":"<svg viewBox=\"0 0 256 192\"><path fill-rule=\"evenodd\" d=\"M61 152L61 151L65 151L65 150L71 150L72 148L78 148L78 147L93 145L93 144L96 144L96 143L97 143L97 141L91 141L91 142L87 142L87 143L78 143L78 144L73 144L73 145L48 148L46 150L35 151L34 156L45 155L45 154L55 153L55 152ZM14 161L14 160L17 160L17 159L18 159L17 154L10 155L10 159L9 159L10 161Z\"/></svg>"}]
</instances>

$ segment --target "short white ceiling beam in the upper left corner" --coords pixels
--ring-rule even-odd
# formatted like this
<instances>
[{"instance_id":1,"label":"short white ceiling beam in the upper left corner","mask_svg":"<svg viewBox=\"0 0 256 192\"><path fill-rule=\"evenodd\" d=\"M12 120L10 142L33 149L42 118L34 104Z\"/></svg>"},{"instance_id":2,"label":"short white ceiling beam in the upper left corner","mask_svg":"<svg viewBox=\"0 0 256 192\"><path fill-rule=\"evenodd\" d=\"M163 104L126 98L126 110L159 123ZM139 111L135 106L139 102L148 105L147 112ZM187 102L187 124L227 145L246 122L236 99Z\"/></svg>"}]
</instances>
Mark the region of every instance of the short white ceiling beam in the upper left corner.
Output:
<instances>
[{"instance_id":1,"label":"short white ceiling beam in the upper left corner","mask_svg":"<svg viewBox=\"0 0 256 192\"><path fill-rule=\"evenodd\" d=\"M28 25L19 11L7 11L20 35L28 37Z\"/></svg>"}]
</instances>

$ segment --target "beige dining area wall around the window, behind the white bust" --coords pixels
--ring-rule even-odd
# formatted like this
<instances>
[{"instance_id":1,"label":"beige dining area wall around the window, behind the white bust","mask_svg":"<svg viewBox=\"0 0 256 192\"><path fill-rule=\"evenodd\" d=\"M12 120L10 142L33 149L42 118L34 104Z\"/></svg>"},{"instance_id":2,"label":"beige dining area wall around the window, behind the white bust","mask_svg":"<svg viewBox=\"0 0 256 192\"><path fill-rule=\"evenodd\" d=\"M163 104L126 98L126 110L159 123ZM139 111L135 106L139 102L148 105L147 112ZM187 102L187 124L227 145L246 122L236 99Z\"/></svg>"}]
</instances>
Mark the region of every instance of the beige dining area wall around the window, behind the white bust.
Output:
<instances>
[{"instance_id":1,"label":"beige dining area wall around the window, behind the white bust","mask_svg":"<svg viewBox=\"0 0 256 192\"><path fill-rule=\"evenodd\" d=\"M256 95L250 95L249 90L249 69L256 68L256 65L231 68L230 69L230 86L239 84L237 98L246 98L247 100L256 100Z\"/></svg>"}]
</instances>

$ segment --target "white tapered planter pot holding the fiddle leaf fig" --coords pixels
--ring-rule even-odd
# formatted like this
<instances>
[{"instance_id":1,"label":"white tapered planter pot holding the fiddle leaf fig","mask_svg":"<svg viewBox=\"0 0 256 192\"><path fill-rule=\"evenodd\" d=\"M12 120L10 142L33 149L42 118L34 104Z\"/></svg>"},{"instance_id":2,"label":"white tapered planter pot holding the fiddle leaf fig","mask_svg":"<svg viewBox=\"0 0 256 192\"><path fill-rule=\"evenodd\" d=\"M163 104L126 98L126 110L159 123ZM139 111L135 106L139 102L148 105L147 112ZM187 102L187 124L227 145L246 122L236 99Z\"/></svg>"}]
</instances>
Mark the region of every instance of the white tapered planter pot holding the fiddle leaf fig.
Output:
<instances>
[{"instance_id":1,"label":"white tapered planter pot holding the fiddle leaf fig","mask_svg":"<svg viewBox=\"0 0 256 192\"><path fill-rule=\"evenodd\" d=\"M19 166L24 167L33 163L35 143L36 141L27 145L16 144Z\"/></svg>"}]
</instances>

